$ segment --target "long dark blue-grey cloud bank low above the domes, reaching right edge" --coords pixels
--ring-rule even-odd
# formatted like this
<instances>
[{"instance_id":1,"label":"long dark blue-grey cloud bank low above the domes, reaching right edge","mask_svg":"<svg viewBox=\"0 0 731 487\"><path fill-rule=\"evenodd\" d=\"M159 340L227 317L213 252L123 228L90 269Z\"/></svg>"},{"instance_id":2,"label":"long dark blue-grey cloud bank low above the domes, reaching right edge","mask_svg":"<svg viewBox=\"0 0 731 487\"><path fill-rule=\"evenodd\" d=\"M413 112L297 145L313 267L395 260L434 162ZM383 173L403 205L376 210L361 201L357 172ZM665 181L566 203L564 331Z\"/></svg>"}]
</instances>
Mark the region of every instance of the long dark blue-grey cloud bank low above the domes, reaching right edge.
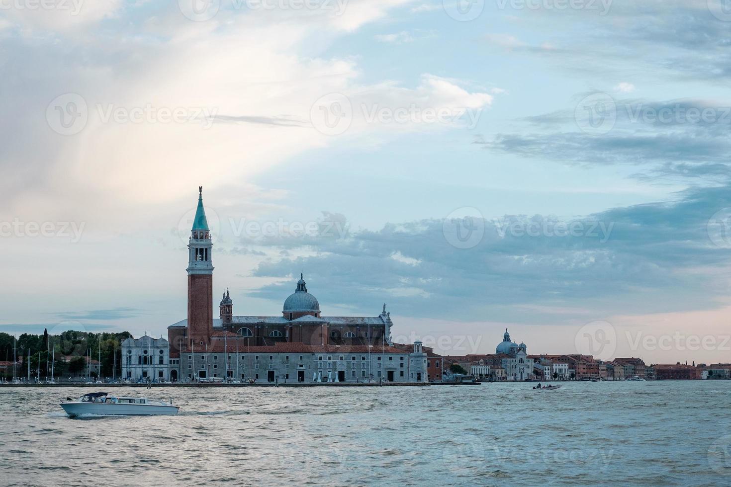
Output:
<instances>
[{"instance_id":1,"label":"long dark blue-grey cloud bank low above the domes, reaching right edge","mask_svg":"<svg viewBox=\"0 0 731 487\"><path fill-rule=\"evenodd\" d=\"M287 276L307 269L308 288L325 313L330 306L368 312L386 300L413 318L527 323L545 320L542 307L551 307L558 323L584 320L587 309L613 314L618 302L628 313L710 309L725 295L728 276L719 266L728 256L709 238L708 222L731 207L730 195L727 184L573 220L488 219L479 245L468 249L450 245L442 219L308 242L315 250L308 256L298 254L301 242L280 241L289 256L266 259L254 271L277 283L254 296L284 299L292 287ZM516 306L534 308L518 318Z\"/></svg>"}]
</instances>

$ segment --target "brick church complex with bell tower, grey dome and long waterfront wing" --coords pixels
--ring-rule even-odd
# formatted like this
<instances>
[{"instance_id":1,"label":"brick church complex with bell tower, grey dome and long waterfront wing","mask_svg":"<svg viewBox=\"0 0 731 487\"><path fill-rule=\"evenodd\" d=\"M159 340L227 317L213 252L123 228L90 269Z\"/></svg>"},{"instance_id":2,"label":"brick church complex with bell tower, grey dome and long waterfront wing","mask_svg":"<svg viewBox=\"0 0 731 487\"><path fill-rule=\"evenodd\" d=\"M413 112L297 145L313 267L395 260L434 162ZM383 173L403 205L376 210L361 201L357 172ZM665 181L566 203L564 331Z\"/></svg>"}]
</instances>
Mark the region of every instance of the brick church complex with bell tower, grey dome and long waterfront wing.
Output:
<instances>
[{"instance_id":1,"label":"brick church complex with bell tower, grey dome and long waterfront wing","mask_svg":"<svg viewBox=\"0 0 731 487\"><path fill-rule=\"evenodd\" d=\"M227 291L213 318L213 242L199 191L188 245L187 318L167 329L170 380L428 382L422 344L391 341L385 304L376 316L323 316L303 275L281 315L234 315Z\"/></svg>"}]
</instances>

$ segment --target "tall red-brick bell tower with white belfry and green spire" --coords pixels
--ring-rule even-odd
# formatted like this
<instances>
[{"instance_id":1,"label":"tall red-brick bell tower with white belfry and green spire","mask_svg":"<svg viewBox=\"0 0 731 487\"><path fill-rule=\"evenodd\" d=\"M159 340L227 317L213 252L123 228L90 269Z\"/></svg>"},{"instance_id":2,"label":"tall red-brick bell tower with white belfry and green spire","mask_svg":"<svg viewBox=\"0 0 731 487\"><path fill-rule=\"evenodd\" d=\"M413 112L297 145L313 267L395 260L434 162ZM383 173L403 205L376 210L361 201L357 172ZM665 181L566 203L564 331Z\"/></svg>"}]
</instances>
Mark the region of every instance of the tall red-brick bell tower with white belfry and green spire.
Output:
<instances>
[{"instance_id":1,"label":"tall red-brick bell tower with white belfry and green spire","mask_svg":"<svg viewBox=\"0 0 731 487\"><path fill-rule=\"evenodd\" d=\"M213 334L213 261L211 230L203 209L203 187L188 242L188 345L210 343Z\"/></svg>"}]
</instances>

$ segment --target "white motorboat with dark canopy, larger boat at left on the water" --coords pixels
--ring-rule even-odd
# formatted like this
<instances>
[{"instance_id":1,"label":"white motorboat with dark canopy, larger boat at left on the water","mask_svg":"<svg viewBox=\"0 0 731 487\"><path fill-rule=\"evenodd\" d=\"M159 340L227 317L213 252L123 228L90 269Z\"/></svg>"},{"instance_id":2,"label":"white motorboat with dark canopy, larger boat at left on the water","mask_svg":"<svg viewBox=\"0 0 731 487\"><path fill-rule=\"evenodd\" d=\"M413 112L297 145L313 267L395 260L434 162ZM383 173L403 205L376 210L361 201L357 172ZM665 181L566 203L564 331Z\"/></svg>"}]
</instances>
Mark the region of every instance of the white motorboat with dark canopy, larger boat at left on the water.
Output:
<instances>
[{"instance_id":1,"label":"white motorboat with dark canopy, larger boat at left on the water","mask_svg":"<svg viewBox=\"0 0 731 487\"><path fill-rule=\"evenodd\" d=\"M79 399L67 398L61 402L64 411L75 418L80 415L123 415L123 416L157 416L176 415L179 406L173 402L158 401L146 397L117 397L106 392L84 394Z\"/></svg>"}]
</instances>

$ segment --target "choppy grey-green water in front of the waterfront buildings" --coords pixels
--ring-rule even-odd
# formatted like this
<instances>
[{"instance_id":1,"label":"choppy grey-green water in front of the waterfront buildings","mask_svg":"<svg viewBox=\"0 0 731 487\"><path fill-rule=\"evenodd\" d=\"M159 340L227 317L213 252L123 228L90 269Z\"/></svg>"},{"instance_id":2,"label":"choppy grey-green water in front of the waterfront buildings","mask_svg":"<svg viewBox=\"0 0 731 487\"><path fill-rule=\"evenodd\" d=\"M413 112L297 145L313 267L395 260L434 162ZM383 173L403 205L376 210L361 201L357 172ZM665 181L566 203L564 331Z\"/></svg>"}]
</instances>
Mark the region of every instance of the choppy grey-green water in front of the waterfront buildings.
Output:
<instances>
[{"instance_id":1,"label":"choppy grey-green water in front of the waterfront buildings","mask_svg":"<svg viewBox=\"0 0 731 487\"><path fill-rule=\"evenodd\" d=\"M181 413L58 407L91 391L0 388L0 484L731 485L731 382L116 388Z\"/></svg>"}]
</instances>

